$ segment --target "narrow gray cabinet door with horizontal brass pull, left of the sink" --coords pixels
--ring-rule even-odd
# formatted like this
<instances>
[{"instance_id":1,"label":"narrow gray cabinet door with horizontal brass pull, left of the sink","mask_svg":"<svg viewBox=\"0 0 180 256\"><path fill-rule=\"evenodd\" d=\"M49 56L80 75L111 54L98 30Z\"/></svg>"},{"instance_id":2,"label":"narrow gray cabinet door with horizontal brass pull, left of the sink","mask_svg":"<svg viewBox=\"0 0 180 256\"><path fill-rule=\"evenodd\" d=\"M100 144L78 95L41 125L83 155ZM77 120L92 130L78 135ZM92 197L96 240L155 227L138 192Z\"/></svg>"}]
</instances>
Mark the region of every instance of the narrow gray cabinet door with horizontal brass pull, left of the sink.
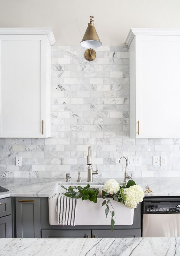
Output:
<instances>
[{"instance_id":1,"label":"narrow gray cabinet door with horizontal brass pull, left of the sink","mask_svg":"<svg viewBox=\"0 0 180 256\"><path fill-rule=\"evenodd\" d=\"M39 197L16 197L16 236L41 237Z\"/></svg>"}]
</instances>

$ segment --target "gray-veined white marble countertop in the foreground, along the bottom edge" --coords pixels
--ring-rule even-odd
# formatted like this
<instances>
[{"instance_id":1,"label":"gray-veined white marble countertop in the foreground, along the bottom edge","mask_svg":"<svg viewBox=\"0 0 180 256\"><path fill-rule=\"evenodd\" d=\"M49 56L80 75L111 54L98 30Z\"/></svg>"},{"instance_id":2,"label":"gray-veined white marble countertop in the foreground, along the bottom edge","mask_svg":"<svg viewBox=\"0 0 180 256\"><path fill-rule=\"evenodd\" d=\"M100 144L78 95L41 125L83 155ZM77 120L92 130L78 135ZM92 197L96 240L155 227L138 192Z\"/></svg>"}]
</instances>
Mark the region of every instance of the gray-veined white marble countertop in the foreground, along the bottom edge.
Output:
<instances>
[{"instance_id":1,"label":"gray-veined white marble countertop in the foreground, along the bottom edge","mask_svg":"<svg viewBox=\"0 0 180 256\"><path fill-rule=\"evenodd\" d=\"M179 256L180 237L1 238L0 256Z\"/></svg>"}]
</instances>

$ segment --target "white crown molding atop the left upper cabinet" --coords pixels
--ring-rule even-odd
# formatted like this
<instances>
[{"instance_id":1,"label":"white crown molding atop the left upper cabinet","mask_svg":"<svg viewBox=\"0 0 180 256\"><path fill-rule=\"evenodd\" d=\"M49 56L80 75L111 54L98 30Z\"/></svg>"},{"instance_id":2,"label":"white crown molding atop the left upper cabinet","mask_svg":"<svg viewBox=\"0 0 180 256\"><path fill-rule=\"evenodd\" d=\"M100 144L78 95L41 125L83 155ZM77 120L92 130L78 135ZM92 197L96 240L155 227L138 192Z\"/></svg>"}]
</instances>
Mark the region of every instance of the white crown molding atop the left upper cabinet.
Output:
<instances>
[{"instance_id":1,"label":"white crown molding atop the left upper cabinet","mask_svg":"<svg viewBox=\"0 0 180 256\"><path fill-rule=\"evenodd\" d=\"M0 35L47 35L50 45L56 43L51 28L0 28Z\"/></svg>"}]
</instances>

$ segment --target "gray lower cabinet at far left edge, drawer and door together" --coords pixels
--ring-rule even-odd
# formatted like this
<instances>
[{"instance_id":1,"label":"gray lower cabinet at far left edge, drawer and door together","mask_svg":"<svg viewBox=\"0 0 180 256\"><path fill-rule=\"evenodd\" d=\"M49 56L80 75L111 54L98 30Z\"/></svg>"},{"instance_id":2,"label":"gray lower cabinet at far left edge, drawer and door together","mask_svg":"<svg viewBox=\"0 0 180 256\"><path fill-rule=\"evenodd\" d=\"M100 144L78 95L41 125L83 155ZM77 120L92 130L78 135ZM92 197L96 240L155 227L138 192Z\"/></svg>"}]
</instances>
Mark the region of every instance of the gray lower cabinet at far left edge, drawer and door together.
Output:
<instances>
[{"instance_id":1,"label":"gray lower cabinet at far left edge, drawer and door together","mask_svg":"<svg viewBox=\"0 0 180 256\"><path fill-rule=\"evenodd\" d=\"M12 237L11 197L0 199L0 238Z\"/></svg>"}]
</instances>

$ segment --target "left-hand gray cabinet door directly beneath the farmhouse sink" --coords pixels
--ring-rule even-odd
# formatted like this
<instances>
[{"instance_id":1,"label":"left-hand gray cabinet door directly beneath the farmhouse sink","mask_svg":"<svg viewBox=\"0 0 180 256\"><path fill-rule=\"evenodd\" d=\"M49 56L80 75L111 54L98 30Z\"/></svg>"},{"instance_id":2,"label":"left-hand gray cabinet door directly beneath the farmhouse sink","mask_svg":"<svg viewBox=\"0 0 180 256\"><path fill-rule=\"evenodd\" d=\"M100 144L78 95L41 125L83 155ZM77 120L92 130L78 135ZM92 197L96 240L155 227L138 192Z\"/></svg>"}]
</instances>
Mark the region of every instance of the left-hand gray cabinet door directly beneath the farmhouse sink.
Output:
<instances>
[{"instance_id":1,"label":"left-hand gray cabinet door directly beneath the farmhouse sink","mask_svg":"<svg viewBox=\"0 0 180 256\"><path fill-rule=\"evenodd\" d=\"M41 238L91 238L91 230L41 230Z\"/></svg>"}]
</instances>

